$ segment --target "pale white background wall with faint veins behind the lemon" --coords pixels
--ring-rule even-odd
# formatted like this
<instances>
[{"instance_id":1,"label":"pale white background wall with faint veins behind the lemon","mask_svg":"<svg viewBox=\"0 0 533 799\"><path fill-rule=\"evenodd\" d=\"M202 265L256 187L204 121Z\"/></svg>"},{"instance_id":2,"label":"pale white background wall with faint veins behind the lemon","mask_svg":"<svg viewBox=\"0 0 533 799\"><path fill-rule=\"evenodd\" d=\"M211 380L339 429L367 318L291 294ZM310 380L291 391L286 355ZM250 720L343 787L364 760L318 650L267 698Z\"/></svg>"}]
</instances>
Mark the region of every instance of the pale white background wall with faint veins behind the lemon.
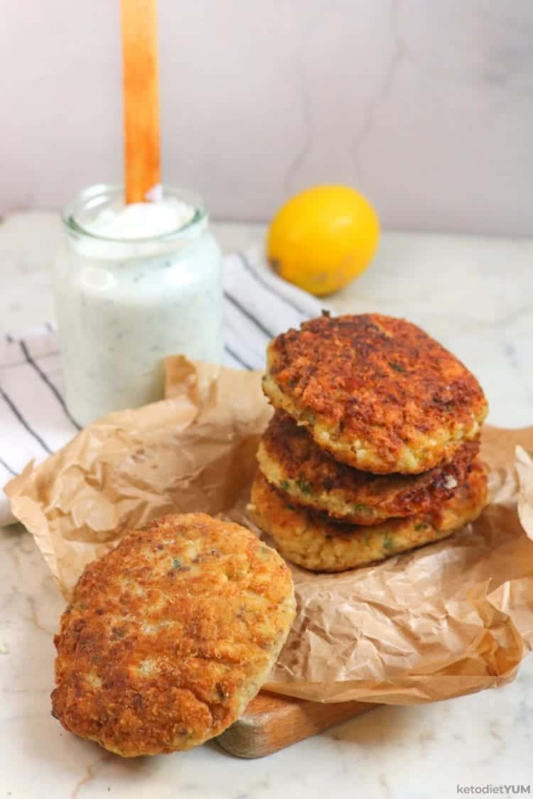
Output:
<instances>
[{"instance_id":1,"label":"pale white background wall with faint veins behind the lemon","mask_svg":"<svg viewBox=\"0 0 533 799\"><path fill-rule=\"evenodd\" d=\"M0 211L121 179L118 0L3 0ZM531 0L160 0L164 178L213 215L356 185L385 225L533 235Z\"/></svg>"}]
</instances>

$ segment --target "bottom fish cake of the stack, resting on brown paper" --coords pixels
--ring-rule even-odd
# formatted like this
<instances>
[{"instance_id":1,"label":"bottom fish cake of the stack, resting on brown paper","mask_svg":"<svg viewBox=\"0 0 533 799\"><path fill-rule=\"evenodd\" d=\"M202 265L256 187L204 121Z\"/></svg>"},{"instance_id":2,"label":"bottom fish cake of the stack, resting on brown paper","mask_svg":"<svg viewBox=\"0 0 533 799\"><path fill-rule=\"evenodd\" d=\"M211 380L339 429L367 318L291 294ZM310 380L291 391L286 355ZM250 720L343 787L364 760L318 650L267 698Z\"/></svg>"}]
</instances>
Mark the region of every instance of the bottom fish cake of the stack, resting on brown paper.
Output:
<instances>
[{"instance_id":1,"label":"bottom fish cake of the stack, resting on brown paper","mask_svg":"<svg viewBox=\"0 0 533 799\"><path fill-rule=\"evenodd\" d=\"M312 571L345 571L390 558L451 535L476 519L487 502L487 473L475 459L466 483L437 511L389 519L375 527L341 524L290 506L260 472L252 487L252 515L287 560Z\"/></svg>"}]
</instances>

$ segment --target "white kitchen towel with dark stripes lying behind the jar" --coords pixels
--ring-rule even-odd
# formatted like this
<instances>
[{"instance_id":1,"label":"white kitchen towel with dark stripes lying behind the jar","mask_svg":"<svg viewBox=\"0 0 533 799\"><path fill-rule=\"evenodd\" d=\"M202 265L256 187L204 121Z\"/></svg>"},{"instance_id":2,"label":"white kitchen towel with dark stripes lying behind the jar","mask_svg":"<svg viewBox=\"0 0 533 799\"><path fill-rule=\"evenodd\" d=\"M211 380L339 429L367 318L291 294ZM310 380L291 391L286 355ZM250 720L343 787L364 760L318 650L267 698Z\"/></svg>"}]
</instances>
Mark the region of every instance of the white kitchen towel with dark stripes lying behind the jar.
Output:
<instances>
[{"instance_id":1,"label":"white kitchen towel with dark stripes lying behind the jar","mask_svg":"<svg viewBox=\"0 0 533 799\"><path fill-rule=\"evenodd\" d=\"M223 274L225 363L233 368L262 368L268 340L324 307L276 276L258 248L225 256ZM64 399L55 324L6 334L0 344L0 487L78 430ZM0 525L12 522L0 491Z\"/></svg>"}]
</instances>

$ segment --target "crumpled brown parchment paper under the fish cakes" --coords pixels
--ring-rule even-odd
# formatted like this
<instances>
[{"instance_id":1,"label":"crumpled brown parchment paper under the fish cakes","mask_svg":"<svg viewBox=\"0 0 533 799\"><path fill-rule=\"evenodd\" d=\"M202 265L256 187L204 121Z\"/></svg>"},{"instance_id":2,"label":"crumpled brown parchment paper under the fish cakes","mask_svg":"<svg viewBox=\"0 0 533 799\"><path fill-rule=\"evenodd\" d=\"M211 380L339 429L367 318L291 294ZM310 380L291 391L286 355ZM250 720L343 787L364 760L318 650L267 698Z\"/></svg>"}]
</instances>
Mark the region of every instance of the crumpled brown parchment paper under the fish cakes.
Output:
<instances>
[{"instance_id":1,"label":"crumpled brown parchment paper under the fish cakes","mask_svg":"<svg viewBox=\"0 0 533 799\"><path fill-rule=\"evenodd\" d=\"M247 503L271 415L261 374L167 360L160 403L105 417L6 486L68 596L128 527ZM533 644L533 427L487 427L491 502L450 539L344 574L292 569L296 622L268 690L413 704L503 685Z\"/></svg>"}]
</instances>

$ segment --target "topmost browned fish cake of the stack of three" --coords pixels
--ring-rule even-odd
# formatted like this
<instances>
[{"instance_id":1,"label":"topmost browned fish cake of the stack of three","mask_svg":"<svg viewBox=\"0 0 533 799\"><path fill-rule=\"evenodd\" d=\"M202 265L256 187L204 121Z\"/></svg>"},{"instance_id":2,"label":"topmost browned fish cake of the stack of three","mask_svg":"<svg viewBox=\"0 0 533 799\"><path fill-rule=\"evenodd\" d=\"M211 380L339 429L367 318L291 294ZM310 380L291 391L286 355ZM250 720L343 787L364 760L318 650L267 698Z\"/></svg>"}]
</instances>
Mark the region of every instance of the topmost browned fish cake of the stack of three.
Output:
<instances>
[{"instance_id":1,"label":"topmost browned fish cake of the stack of three","mask_svg":"<svg viewBox=\"0 0 533 799\"><path fill-rule=\"evenodd\" d=\"M379 314L322 316L277 336L263 388L337 460L376 474L451 459L487 415L479 383L455 356Z\"/></svg>"}]
</instances>

